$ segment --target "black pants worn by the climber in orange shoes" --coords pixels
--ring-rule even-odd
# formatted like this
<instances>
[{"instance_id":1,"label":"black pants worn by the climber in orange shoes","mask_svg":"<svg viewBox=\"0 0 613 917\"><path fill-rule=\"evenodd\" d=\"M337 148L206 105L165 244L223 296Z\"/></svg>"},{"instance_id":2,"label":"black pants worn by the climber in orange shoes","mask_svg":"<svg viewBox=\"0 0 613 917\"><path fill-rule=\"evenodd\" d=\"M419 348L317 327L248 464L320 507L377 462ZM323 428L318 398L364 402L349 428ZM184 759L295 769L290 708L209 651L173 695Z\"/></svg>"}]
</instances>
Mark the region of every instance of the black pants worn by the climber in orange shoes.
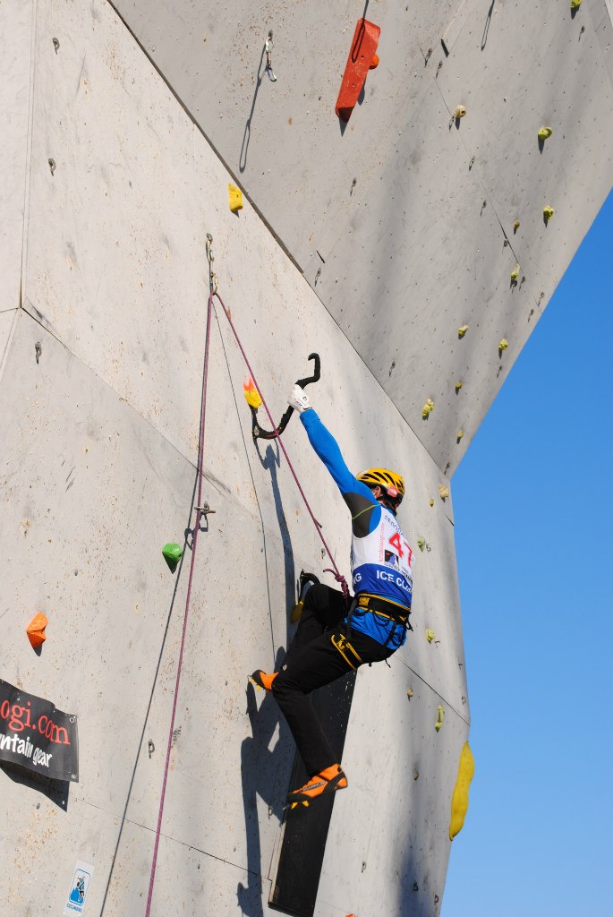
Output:
<instances>
[{"instance_id":1,"label":"black pants worn by the climber in orange shoes","mask_svg":"<svg viewBox=\"0 0 613 917\"><path fill-rule=\"evenodd\" d=\"M301 623L272 683L272 693L310 777L336 762L308 695L363 663L380 662L394 652L347 628L346 613L341 591L312 586L304 600Z\"/></svg>"}]
</instances>

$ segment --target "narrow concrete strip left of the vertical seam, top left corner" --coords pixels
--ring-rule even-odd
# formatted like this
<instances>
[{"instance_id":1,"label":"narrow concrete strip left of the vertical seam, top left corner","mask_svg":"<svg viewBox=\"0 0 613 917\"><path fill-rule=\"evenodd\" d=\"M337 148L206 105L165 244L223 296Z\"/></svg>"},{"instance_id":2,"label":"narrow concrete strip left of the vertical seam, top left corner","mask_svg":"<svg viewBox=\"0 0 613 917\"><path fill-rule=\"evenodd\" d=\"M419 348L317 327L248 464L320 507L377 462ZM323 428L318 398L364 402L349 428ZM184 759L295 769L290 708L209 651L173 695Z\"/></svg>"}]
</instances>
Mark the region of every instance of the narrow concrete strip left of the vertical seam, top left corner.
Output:
<instances>
[{"instance_id":1,"label":"narrow concrete strip left of the vertical seam, top left corner","mask_svg":"<svg viewBox=\"0 0 613 917\"><path fill-rule=\"evenodd\" d=\"M0 313L16 309L21 292L33 6L32 0L0 3L0 34L5 36L0 59Z\"/></svg>"}]
</instances>

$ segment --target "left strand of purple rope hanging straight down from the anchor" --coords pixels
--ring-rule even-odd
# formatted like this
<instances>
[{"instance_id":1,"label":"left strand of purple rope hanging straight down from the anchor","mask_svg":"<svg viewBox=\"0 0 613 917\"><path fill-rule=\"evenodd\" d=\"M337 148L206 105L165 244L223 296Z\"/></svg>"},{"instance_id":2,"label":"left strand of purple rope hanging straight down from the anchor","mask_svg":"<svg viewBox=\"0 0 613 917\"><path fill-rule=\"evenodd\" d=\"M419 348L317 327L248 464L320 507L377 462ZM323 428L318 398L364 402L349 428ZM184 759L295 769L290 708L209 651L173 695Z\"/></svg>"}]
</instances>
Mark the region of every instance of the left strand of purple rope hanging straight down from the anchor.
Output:
<instances>
[{"instance_id":1,"label":"left strand of purple rope hanging straight down from the anchor","mask_svg":"<svg viewBox=\"0 0 613 917\"><path fill-rule=\"evenodd\" d=\"M209 304L206 313L206 343L204 345L204 373L203 373L203 399L201 402L200 413L200 438L198 440L198 500L196 506L202 506L203 493L203 455L204 455L204 419L206 414L206 383L209 374L209 344L211 340L211 315L213 312L213 293L209 295ZM193 569L196 559L196 545L198 544L198 532L200 531L200 509L196 510L196 525L192 533L192 562L190 564L190 579L187 584L187 598L185 600L185 616L183 618L183 633L181 635L181 651L179 653L179 665L177 666L177 681L175 683L174 698L172 700L172 716L170 718L169 741L166 748L166 764L164 766L164 779L162 781L162 791L159 798L158 826L156 828L156 840L153 846L153 861L151 863L151 874L149 876L149 890L147 896L147 910L145 917L149 917L151 912L151 900L153 899L153 883L156 877L156 867L158 864L159 834L162 827L162 815L164 812L164 799L166 797L166 784L168 782L170 769L170 750L172 747L172 733L174 732L174 720L177 713L177 698L179 696L179 684L181 681L181 664L183 661L183 649L185 647L185 634L187 632L187 619L190 613L190 599L192 597L192 579Z\"/></svg>"}]
</instances>

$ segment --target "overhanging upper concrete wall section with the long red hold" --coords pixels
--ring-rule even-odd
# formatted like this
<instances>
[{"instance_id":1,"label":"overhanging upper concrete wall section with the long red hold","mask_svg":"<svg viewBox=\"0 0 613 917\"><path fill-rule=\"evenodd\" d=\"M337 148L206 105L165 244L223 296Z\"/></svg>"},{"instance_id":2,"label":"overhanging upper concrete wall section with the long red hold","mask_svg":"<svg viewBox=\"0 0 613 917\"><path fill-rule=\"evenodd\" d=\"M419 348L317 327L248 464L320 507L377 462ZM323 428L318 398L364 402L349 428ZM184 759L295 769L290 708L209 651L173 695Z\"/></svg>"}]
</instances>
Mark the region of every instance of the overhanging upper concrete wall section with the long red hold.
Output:
<instances>
[{"instance_id":1,"label":"overhanging upper concrete wall section with the long red hold","mask_svg":"<svg viewBox=\"0 0 613 917\"><path fill-rule=\"evenodd\" d=\"M449 474L613 184L608 2L380 0L346 125L362 5L115 3Z\"/></svg>"}]
</instances>

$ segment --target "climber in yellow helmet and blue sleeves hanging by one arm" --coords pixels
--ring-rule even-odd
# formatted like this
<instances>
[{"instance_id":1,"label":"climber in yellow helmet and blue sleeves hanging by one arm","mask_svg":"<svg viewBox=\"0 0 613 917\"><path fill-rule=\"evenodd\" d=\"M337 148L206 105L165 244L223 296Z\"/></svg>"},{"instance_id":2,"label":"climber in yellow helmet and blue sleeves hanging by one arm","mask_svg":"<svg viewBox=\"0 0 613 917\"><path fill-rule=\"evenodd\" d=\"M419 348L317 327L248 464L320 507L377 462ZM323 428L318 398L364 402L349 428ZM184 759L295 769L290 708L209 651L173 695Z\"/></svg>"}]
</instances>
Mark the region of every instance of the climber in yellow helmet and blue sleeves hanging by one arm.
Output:
<instances>
[{"instance_id":1,"label":"climber in yellow helmet and blue sleeves hanging by one arm","mask_svg":"<svg viewBox=\"0 0 613 917\"><path fill-rule=\"evenodd\" d=\"M300 790L289 794L288 803L293 806L347 786L308 695L365 662L370 665L387 659L404 644L410 628L413 554L396 521L404 496L400 475L374 468L354 477L299 385L288 401L300 413L313 449L351 513L351 571L356 593L352 602L340 590L310 586L301 595L301 622L279 671L257 669L251 676L260 688L272 691L309 776Z\"/></svg>"}]
</instances>

